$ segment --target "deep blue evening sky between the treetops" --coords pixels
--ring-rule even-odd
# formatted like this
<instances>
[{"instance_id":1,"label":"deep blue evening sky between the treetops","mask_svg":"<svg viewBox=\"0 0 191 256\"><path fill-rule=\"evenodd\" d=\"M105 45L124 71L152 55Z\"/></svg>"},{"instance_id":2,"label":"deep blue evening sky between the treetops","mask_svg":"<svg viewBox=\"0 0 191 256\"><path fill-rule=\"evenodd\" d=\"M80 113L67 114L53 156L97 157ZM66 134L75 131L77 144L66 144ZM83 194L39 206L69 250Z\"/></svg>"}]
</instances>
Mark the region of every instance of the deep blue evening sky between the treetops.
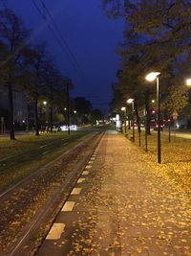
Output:
<instances>
[{"instance_id":1,"label":"deep blue evening sky between the treetops","mask_svg":"<svg viewBox=\"0 0 191 256\"><path fill-rule=\"evenodd\" d=\"M34 2L44 12L40 0ZM72 95L86 97L94 108L105 112L111 101L111 83L116 81L119 68L115 50L122 38L123 21L108 19L99 7L100 0L44 0L80 66L76 71L32 5L32 0L7 0L7 3L21 16L26 27L32 28L34 43L47 41L59 70L74 81ZM50 22L48 15L46 17ZM88 98L91 96L98 98Z\"/></svg>"}]
</instances>

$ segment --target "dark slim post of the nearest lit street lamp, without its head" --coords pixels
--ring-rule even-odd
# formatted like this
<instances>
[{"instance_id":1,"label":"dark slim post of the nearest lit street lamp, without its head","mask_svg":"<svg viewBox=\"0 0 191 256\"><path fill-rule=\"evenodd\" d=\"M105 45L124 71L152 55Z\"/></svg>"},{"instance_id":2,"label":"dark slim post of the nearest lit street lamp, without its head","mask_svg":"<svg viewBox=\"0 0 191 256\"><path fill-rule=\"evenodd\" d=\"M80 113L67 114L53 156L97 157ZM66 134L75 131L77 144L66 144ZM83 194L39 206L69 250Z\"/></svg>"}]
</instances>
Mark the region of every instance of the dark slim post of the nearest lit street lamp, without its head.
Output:
<instances>
[{"instance_id":1,"label":"dark slim post of the nearest lit street lamp, without its head","mask_svg":"<svg viewBox=\"0 0 191 256\"><path fill-rule=\"evenodd\" d=\"M158 163L161 163L160 149L160 108L159 108L159 77L157 77L157 105L158 105Z\"/></svg>"}]
</instances>

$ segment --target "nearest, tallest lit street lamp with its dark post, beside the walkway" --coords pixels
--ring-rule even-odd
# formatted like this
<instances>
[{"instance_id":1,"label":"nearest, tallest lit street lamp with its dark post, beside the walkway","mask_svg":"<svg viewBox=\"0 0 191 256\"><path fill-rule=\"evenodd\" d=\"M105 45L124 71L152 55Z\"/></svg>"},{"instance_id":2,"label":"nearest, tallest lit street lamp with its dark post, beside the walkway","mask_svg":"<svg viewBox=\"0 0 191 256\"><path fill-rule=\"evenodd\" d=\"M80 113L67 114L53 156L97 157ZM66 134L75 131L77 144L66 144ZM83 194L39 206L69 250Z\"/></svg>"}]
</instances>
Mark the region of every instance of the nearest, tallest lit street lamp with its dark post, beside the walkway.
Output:
<instances>
[{"instance_id":1,"label":"nearest, tallest lit street lamp with its dark post, beside the walkway","mask_svg":"<svg viewBox=\"0 0 191 256\"><path fill-rule=\"evenodd\" d=\"M158 163L161 163L161 149L160 149L160 108L159 108L159 72L149 73L146 81L157 81L157 109L158 109Z\"/></svg>"}]
</instances>

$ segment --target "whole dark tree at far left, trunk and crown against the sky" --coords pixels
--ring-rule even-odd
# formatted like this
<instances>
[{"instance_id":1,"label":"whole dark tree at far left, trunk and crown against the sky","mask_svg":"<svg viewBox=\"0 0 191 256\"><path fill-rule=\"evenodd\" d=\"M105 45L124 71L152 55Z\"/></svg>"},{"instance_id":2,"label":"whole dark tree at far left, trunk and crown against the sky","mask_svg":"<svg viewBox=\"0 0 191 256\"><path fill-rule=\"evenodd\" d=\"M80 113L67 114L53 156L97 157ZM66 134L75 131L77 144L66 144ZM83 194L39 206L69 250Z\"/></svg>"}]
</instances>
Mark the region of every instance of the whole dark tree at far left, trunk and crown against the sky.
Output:
<instances>
[{"instance_id":1,"label":"whole dark tree at far left, trunk and crown against the sky","mask_svg":"<svg viewBox=\"0 0 191 256\"><path fill-rule=\"evenodd\" d=\"M1 67L6 71L4 84L9 90L10 105L10 137L14 140L14 120L13 120L13 86L16 86L19 61L22 58L22 51L29 42L30 32L24 28L23 22L14 12L5 9L0 12L0 38L6 50L6 58L1 63ZM2 45L1 45L2 46Z\"/></svg>"}]
</instances>

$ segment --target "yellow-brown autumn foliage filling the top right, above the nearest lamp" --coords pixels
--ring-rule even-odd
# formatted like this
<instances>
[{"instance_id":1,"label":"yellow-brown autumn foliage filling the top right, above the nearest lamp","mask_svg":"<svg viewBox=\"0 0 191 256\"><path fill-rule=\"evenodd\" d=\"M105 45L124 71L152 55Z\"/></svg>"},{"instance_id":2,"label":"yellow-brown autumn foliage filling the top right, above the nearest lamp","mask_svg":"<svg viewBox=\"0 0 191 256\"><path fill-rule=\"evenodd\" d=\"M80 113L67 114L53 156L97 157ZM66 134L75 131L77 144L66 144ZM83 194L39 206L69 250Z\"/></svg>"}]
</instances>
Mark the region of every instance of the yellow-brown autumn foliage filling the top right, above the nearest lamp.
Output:
<instances>
[{"instance_id":1,"label":"yellow-brown autumn foliage filling the top right, above the nearest lamp","mask_svg":"<svg viewBox=\"0 0 191 256\"><path fill-rule=\"evenodd\" d=\"M126 69L128 71L126 77L128 76L128 80L134 84L131 89L128 84L129 90L126 88L126 92L135 91L134 87L137 87L138 83L140 84L138 90L145 87L143 81L145 74L156 69L162 74L160 83L162 92L165 93L164 100L167 101L163 105L168 109L169 107L182 108L186 104L186 97L182 93L180 85L182 82L177 84L176 80L179 79L180 74L185 74L187 68L182 70L183 63L190 62L188 59L191 45L191 3L188 1L103 0L103 8L110 18L122 16L127 23L122 47L118 50L123 61L123 74ZM132 57L137 58L133 73L136 75L137 72L138 83L134 82L135 76L131 76L129 69ZM123 89L121 85L119 87ZM149 92L146 88L144 95L148 113L150 93L152 91ZM177 103L180 104L176 106ZM147 122L149 122L148 119Z\"/></svg>"}]
</instances>

